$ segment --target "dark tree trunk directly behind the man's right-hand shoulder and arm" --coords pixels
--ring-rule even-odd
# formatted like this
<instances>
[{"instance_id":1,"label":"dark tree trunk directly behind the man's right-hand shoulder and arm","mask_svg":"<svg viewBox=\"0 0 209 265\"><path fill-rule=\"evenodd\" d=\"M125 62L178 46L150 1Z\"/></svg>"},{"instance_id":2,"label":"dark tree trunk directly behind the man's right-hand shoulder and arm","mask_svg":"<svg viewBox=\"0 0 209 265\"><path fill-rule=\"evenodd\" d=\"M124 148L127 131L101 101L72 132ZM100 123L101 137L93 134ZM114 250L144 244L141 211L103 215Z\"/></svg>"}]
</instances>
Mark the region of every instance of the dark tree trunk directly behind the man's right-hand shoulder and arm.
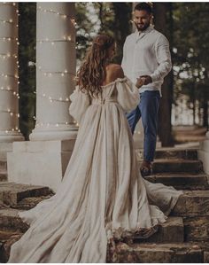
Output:
<instances>
[{"instance_id":1,"label":"dark tree trunk directly behind the man's right-hand shoulder and arm","mask_svg":"<svg viewBox=\"0 0 209 265\"><path fill-rule=\"evenodd\" d=\"M172 3L154 3L154 25L159 32L166 35L170 43L172 54L173 47L173 18ZM173 102L174 75L171 71L165 78L162 86L162 95L159 106L159 139L162 146L173 146L171 111Z\"/></svg>"}]
</instances>

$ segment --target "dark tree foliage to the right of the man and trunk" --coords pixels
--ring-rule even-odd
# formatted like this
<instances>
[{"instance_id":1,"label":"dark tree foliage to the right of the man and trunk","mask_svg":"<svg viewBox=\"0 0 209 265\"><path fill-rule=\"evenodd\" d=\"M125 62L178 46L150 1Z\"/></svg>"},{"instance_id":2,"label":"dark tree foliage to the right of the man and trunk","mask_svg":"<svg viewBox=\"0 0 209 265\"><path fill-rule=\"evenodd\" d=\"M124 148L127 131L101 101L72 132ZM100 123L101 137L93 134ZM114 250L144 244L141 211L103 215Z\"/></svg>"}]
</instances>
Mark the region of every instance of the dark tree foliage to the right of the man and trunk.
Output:
<instances>
[{"instance_id":1,"label":"dark tree foliage to the right of the man and trunk","mask_svg":"<svg viewBox=\"0 0 209 265\"><path fill-rule=\"evenodd\" d=\"M197 100L205 113L203 125L208 126L209 4L175 3L173 13L174 98L188 95L191 108Z\"/></svg>"}]
</instances>

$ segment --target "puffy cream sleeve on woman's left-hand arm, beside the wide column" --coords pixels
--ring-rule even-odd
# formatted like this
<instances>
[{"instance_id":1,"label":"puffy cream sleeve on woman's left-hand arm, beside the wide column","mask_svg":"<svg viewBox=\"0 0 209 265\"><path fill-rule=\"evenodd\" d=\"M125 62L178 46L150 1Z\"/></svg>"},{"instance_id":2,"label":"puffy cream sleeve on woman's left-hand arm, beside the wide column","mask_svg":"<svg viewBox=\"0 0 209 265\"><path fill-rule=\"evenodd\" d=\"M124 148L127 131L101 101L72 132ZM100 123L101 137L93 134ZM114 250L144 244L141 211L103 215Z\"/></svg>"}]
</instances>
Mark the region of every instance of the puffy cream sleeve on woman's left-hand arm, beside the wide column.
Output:
<instances>
[{"instance_id":1,"label":"puffy cream sleeve on woman's left-hand arm, beside the wide column","mask_svg":"<svg viewBox=\"0 0 209 265\"><path fill-rule=\"evenodd\" d=\"M89 96L76 87L73 94L70 96L70 100L71 104L69 106L69 113L74 117L75 121L81 123L83 114L90 105Z\"/></svg>"}]
</instances>

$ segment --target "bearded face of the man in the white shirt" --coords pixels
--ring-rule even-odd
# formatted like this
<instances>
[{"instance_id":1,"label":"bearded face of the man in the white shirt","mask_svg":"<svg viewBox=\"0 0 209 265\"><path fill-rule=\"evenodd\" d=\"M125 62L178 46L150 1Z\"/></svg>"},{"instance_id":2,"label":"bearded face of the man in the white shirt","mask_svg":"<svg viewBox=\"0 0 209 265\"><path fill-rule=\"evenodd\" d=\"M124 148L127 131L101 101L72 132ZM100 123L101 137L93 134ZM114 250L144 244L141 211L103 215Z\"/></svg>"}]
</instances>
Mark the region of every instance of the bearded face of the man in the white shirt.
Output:
<instances>
[{"instance_id":1,"label":"bearded face of the man in the white shirt","mask_svg":"<svg viewBox=\"0 0 209 265\"><path fill-rule=\"evenodd\" d=\"M150 26L151 23L151 14L144 10L135 10L135 26L137 27L138 31L143 31L147 27Z\"/></svg>"}]
</instances>

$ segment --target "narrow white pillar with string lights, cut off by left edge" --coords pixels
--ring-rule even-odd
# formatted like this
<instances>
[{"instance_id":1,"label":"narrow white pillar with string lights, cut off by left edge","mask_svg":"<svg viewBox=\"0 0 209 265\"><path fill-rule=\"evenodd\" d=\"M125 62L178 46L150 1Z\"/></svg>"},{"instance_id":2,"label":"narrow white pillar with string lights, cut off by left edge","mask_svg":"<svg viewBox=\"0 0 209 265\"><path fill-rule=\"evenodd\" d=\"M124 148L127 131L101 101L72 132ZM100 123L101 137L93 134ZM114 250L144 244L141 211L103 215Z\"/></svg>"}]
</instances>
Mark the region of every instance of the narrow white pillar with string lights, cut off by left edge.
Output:
<instances>
[{"instance_id":1,"label":"narrow white pillar with string lights, cut off by left edge","mask_svg":"<svg viewBox=\"0 0 209 265\"><path fill-rule=\"evenodd\" d=\"M19 131L18 4L0 4L0 143L24 140Z\"/></svg>"}]
</instances>

